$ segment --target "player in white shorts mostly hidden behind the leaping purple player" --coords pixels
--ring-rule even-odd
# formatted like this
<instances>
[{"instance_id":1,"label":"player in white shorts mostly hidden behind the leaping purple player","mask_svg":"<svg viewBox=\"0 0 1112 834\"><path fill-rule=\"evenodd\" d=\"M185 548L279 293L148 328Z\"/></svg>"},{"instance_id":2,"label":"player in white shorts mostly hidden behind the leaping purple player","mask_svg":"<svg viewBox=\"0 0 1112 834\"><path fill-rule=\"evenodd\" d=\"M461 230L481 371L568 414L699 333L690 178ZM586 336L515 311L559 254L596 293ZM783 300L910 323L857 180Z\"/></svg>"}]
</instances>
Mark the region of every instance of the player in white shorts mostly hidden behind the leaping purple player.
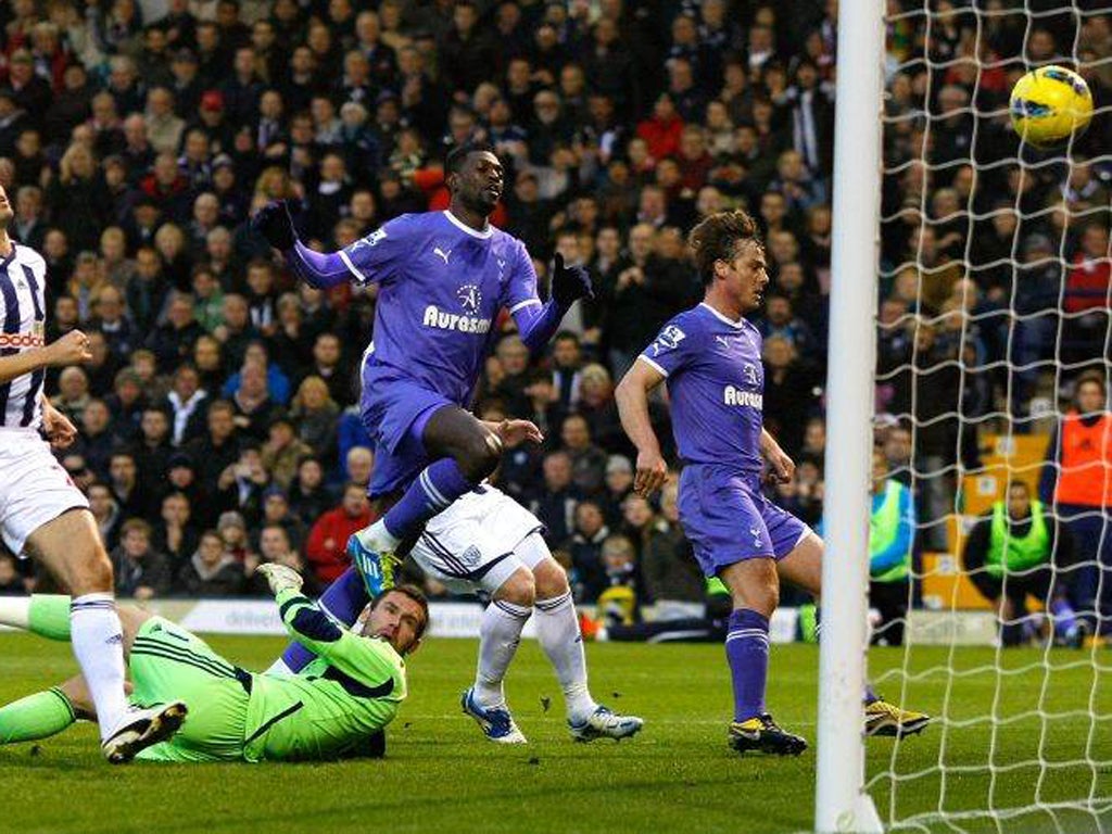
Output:
<instances>
[{"instance_id":1,"label":"player in white shorts mostly hidden behind the leaping purple player","mask_svg":"<svg viewBox=\"0 0 1112 834\"><path fill-rule=\"evenodd\" d=\"M528 428L523 428L525 423L507 421L502 430L507 445L513 446L526 430L539 438L537 427L527 424ZM641 729L641 718L616 715L590 696L567 574L548 552L542 528L537 517L522 505L483 484L435 516L413 547L417 564L453 590L484 592L492 598L479 629L475 683L461 698L464 712L493 742L526 741L506 705L503 679L522 629L535 616L540 647L564 692L572 737L589 742L632 736ZM364 584L354 573L332 583L320 598L321 607L341 623L350 622L365 602ZM271 671L297 671L304 662L302 652L287 651Z\"/></svg>"}]
</instances>

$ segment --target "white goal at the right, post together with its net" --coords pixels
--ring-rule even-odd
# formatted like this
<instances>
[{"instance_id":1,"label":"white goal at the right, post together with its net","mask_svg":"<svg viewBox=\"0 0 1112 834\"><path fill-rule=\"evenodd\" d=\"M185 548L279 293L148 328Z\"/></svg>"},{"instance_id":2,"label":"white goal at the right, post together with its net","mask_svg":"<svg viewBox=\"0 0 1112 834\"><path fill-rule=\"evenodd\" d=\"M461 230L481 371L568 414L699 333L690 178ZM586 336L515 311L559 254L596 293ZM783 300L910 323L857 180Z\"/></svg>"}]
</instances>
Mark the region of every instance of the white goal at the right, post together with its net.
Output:
<instances>
[{"instance_id":1,"label":"white goal at the right, post together with its net","mask_svg":"<svg viewBox=\"0 0 1112 834\"><path fill-rule=\"evenodd\" d=\"M1099 467L1112 471L1110 32L1112 0L838 4L814 811L822 834L1112 826L1112 481L1105 475L1103 492L1076 487ZM1095 116L1088 135L1039 149L1010 132L1007 92L1052 63L1086 79ZM890 235L896 224L904 237ZM944 257L936 234L949 238ZM893 290L878 321L882 282ZM904 353L891 348L893 334ZM1104 401L1092 405L1090 394L1082 405L1080 390L1102 383ZM867 758L877 401L900 404L880 410L910 435L892 477L900 469L919 493L923 550L903 584L906 631L893 641L903 647L874 654L887 671L872 677L891 687L893 703L933 718L922 737ZM1064 449L1078 448L1068 430L1089 444L1081 464L1065 463ZM1099 430L1105 440L1083 434ZM1011 508L1013 493L1026 510ZM1070 545L1074 534L1080 544ZM1033 562L1010 560L1015 539L1035 546L1039 536ZM1023 577L1040 572L1049 578L1034 589ZM934 609L912 613L915 600ZM977 628L960 634L971 623ZM925 705L902 703L924 692Z\"/></svg>"}]
</instances>

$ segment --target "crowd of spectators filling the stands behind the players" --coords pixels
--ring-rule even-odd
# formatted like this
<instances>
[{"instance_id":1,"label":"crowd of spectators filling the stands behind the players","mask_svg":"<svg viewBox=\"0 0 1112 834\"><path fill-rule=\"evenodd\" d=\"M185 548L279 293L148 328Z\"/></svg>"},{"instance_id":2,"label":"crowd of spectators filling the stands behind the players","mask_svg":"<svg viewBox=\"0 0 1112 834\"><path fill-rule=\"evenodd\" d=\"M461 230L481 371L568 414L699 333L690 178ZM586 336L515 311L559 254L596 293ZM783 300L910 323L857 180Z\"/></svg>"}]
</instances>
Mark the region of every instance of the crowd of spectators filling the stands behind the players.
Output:
<instances>
[{"instance_id":1,"label":"crowd of spectators filling the stands behind the players","mask_svg":"<svg viewBox=\"0 0 1112 834\"><path fill-rule=\"evenodd\" d=\"M888 6L907 11L888 30L877 408L897 416L892 469L943 473L919 481L930 538L947 467L975 465L976 418L1010 405L1035 429L1051 363L1074 363L1068 384L1105 354L1112 165L1088 159L1112 147L1109 120L1069 170L1021 168L1005 108L1024 60L1054 57L1108 101L1112 26L1091 16L1066 39L1072 18L1029 32L1001 13L977 29L940 0L924 54L926 18ZM80 429L61 459L118 592L264 593L260 560L310 587L344 569L371 519L356 404L375 288L295 282L247 219L291 198L301 236L332 251L445 208L444 153L475 138L507 166L496 225L542 278L560 252L595 281L539 361L502 322L476 398L545 433L496 477L544 522L577 598L629 584L643 602L703 599L674 481L658 502L632 495L613 389L699 299L685 234L725 207L757 217L772 265L765 425L800 464L775 497L817 524L835 14L833 0L4 3L0 185L13 238L48 264L48 341L91 339L92 361L51 373L48 393ZM996 118L974 129L971 108ZM0 590L23 593L31 570L3 556Z\"/></svg>"}]
</instances>

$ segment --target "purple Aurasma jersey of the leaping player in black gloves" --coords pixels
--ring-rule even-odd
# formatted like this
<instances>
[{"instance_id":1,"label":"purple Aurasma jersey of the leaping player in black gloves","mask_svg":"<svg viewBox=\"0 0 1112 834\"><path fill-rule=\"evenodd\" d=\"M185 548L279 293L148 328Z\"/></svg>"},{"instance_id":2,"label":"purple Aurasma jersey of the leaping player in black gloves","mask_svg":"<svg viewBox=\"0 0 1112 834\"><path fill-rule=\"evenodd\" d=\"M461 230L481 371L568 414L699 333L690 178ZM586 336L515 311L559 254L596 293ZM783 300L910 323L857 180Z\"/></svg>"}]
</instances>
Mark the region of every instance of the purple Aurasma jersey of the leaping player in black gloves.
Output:
<instances>
[{"instance_id":1,"label":"purple Aurasma jersey of the leaping player in black gloves","mask_svg":"<svg viewBox=\"0 0 1112 834\"><path fill-rule=\"evenodd\" d=\"M525 245L493 226L476 231L448 211L397 217L340 257L358 284L379 285L365 397L380 373L466 406L498 312L540 304Z\"/></svg>"}]
</instances>

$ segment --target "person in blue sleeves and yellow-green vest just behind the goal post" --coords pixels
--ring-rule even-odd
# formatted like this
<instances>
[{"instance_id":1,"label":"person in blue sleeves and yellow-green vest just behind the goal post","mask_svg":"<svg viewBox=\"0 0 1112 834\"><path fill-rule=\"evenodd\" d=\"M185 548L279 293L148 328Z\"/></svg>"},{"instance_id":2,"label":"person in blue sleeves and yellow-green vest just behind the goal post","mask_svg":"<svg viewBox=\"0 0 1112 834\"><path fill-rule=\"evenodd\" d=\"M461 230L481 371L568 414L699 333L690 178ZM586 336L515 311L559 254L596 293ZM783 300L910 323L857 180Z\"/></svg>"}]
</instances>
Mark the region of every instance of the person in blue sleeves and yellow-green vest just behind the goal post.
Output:
<instances>
[{"instance_id":1,"label":"person in blue sleeves and yellow-green vest just behind the goal post","mask_svg":"<svg viewBox=\"0 0 1112 834\"><path fill-rule=\"evenodd\" d=\"M873 447L873 505L868 516L868 603L881 614L873 643L903 645L911 602L915 498L888 474L884 449Z\"/></svg>"}]
</instances>

